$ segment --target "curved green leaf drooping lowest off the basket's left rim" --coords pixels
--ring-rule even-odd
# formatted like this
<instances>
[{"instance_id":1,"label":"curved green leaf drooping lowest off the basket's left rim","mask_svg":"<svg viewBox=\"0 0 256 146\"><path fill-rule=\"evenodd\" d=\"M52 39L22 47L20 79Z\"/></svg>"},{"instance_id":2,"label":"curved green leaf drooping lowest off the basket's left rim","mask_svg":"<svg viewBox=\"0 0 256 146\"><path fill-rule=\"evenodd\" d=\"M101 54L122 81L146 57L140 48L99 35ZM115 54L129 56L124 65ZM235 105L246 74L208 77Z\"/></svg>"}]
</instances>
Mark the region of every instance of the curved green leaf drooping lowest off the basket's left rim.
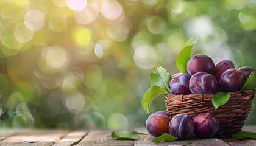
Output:
<instances>
[{"instance_id":1,"label":"curved green leaf drooping lowest off the basket's left rim","mask_svg":"<svg viewBox=\"0 0 256 146\"><path fill-rule=\"evenodd\" d=\"M141 100L141 106L143 107L144 111L149 114L149 106L152 102L152 100L157 97L160 94L165 93L166 91L159 86L152 86L148 89L148 91L145 92L142 100Z\"/></svg>"}]
</instances>

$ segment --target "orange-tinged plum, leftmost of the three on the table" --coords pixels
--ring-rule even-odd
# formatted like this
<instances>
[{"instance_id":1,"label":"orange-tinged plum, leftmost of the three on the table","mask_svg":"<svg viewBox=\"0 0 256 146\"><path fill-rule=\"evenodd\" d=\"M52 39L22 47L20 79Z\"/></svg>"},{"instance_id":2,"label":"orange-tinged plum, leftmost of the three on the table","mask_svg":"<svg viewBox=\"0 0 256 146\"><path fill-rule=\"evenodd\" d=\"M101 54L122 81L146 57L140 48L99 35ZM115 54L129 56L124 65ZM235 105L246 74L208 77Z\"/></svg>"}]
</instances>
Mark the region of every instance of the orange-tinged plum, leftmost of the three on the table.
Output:
<instances>
[{"instance_id":1,"label":"orange-tinged plum, leftmost of the three on the table","mask_svg":"<svg viewBox=\"0 0 256 146\"><path fill-rule=\"evenodd\" d=\"M154 137L159 137L163 133L169 133L168 127L171 121L171 114L166 111L157 111L146 120L146 129L149 134Z\"/></svg>"}]
</instances>

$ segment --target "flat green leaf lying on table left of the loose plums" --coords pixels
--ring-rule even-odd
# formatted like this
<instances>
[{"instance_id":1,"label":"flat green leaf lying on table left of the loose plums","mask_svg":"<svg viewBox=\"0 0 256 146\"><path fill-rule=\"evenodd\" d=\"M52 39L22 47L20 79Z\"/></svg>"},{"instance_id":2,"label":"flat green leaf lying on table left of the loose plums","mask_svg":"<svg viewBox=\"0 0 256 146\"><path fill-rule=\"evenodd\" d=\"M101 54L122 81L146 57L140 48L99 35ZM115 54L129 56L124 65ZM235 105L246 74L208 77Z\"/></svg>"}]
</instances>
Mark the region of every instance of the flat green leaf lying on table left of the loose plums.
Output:
<instances>
[{"instance_id":1,"label":"flat green leaf lying on table left of the loose plums","mask_svg":"<svg viewBox=\"0 0 256 146\"><path fill-rule=\"evenodd\" d=\"M139 135L148 135L148 134L138 133L136 131L121 131L121 132L113 131L111 133L112 139L118 139L118 140L133 140L137 138Z\"/></svg>"}]
</instances>

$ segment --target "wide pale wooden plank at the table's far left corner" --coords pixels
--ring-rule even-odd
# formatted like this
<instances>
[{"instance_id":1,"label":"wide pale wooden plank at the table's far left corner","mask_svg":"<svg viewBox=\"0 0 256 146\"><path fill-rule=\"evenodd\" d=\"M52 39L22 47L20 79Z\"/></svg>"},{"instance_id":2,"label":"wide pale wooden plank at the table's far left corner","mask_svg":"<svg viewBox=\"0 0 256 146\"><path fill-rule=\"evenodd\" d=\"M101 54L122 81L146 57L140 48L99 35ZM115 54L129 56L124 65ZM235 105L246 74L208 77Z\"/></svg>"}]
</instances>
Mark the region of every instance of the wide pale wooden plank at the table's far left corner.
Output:
<instances>
[{"instance_id":1,"label":"wide pale wooden plank at the table's far left corner","mask_svg":"<svg viewBox=\"0 0 256 146\"><path fill-rule=\"evenodd\" d=\"M33 130L7 137L0 141L0 146L48 146L60 141L60 139L62 139L66 134L68 134L68 131L63 130Z\"/></svg>"}]
</instances>

